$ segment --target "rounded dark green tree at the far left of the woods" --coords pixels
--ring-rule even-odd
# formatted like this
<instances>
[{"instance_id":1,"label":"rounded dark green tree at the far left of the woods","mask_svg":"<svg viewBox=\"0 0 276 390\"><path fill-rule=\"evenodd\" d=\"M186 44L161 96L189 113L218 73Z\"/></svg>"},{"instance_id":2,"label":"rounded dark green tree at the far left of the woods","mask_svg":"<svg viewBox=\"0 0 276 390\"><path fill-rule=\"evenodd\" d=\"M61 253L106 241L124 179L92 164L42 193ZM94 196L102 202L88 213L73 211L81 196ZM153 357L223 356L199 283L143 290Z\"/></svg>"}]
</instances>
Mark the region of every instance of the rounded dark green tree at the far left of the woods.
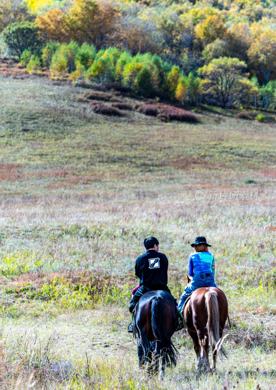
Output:
<instances>
[{"instance_id":1,"label":"rounded dark green tree at the far left of the woods","mask_svg":"<svg viewBox=\"0 0 276 390\"><path fill-rule=\"evenodd\" d=\"M39 27L28 21L21 21L9 24L2 32L4 42L9 53L21 57L24 50L32 53L39 51L42 42L39 38Z\"/></svg>"}]
</instances>

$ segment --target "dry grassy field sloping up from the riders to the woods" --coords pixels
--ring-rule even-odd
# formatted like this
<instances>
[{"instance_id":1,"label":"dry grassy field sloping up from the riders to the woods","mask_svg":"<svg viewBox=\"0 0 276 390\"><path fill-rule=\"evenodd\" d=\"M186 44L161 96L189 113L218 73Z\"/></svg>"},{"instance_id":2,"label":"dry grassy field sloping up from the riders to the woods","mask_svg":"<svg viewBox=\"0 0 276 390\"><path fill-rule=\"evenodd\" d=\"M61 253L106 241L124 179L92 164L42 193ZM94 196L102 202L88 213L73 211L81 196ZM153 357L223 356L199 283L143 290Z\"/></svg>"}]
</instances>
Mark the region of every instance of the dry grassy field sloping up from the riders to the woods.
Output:
<instances>
[{"instance_id":1,"label":"dry grassy field sloping up from the riders to the woods","mask_svg":"<svg viewBox=\"0 0 276 390\"><path fill-rule=\"evenodd\" d=\"M0 389L275 390L276 125L104 117L85 92L0 78ZM186 334L164 382L138 370L128 303L150 235L177 298L189 243L212 244L232 322L212 376Z\"/></svg>"}]
</instances>

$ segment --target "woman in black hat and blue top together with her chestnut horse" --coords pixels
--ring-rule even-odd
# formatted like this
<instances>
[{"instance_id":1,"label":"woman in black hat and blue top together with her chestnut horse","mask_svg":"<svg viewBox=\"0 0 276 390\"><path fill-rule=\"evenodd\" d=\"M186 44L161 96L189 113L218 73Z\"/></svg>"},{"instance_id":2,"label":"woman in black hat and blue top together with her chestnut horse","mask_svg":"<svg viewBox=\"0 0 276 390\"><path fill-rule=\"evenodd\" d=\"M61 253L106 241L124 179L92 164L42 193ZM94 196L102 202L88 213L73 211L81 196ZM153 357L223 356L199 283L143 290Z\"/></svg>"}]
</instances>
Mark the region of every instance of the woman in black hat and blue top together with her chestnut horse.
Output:
<instances>
[{"instance_id":1,"label":"woman in black hat and blue top together with her chestnut horse","mask_svg":"<svg viewBox=\"0 0 276 390\"><path fill-rule=\"evenodd\" d=\"M189 258L189 273L193 279L187 276L188 285L180 297L178 309L183 312L187 331L193 339L198 369L209 370L209 343L213 350L212 369L215 369L217 354L226 356L221 337L228 317L228 303L214 280L215 258L208 251L211 245L205 237L198 236L191 246L195 249ZM189 296L191 299L184 306Z\"/></svg>"}]
</instances>

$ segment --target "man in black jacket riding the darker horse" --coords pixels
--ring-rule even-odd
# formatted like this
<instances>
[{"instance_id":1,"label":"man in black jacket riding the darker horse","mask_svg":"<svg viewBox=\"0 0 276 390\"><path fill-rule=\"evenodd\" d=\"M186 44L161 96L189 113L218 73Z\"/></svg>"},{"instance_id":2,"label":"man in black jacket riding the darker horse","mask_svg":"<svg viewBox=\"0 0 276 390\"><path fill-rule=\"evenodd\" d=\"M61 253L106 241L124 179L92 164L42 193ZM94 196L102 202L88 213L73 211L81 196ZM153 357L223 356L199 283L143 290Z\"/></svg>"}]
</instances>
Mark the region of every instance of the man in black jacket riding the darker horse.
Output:
<instances>
[{"instance_id":1,"label":"man in black jacket riding the darker horse","mask_svg":"<svg viewBox=\"0 0 276 390\"><path fill-rule=\"evenodd\" d=\"M155 237L144 239L146 253L138 257L135 263L135 274L140 279L137 291L130 301L129 311L132 313L143 294L149 291L162 290L170 292L168 283L168 259L159 252L159 242ZM136 289L134 289L136 290ZM177 330L182 329L181 324ZM133 331L133 324L130 324L128 331Z\"/></svg>"}]
</instances>

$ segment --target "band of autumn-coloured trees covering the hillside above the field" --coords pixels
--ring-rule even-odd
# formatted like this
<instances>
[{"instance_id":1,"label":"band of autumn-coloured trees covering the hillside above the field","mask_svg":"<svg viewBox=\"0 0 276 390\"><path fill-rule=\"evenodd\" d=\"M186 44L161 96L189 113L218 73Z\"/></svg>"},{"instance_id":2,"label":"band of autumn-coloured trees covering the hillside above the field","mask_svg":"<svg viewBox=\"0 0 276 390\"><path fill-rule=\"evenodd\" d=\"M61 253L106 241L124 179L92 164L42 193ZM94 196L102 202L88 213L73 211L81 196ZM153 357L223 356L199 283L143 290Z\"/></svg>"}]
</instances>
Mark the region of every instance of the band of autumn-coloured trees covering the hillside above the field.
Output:
<instances>
[{"instance_id":1,"label":"band of autumn-coloured trees covering the hillside above the field","mask_svg":"<svg viewBox=\"0 0 276 390\"><path fill-rule=\"evenodd\" d=\"M273 1L40 2L38 15L21 0L0 5L1 40L30 72L44 66L53 78L117 82L182 104L275 104Z\"/></svg>"}]
</instances>

